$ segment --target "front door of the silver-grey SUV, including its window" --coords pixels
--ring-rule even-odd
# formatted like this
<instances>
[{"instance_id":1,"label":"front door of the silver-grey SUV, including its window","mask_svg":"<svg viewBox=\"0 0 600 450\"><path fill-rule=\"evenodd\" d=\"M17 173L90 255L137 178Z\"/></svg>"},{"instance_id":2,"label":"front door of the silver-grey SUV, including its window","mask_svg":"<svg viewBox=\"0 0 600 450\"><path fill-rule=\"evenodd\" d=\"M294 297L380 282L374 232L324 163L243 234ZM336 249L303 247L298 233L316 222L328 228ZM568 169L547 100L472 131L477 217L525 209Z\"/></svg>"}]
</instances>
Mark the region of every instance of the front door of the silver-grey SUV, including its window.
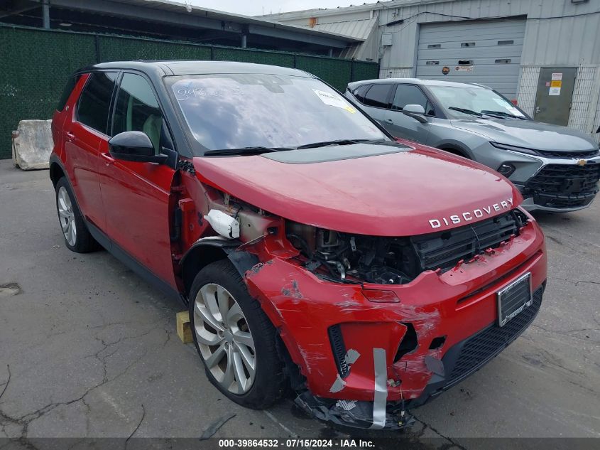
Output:
<instances>
[{"instance_id":1,"label":"front door of the silver-grey SUV, including its window","mask_svg":"<svg viewBox=\"0 0 600 450\"><path fill-rule=\"evenodd\" d=\"M431 122L424 124L402 112L405 105L421 105L425 109L425 117L434 116L435 110L425 94L417 85L396 85L391 102L391 109L386 110L383 126L393 136L409 141L426 144L429 137Z\"/></svg>"}]
</instances>

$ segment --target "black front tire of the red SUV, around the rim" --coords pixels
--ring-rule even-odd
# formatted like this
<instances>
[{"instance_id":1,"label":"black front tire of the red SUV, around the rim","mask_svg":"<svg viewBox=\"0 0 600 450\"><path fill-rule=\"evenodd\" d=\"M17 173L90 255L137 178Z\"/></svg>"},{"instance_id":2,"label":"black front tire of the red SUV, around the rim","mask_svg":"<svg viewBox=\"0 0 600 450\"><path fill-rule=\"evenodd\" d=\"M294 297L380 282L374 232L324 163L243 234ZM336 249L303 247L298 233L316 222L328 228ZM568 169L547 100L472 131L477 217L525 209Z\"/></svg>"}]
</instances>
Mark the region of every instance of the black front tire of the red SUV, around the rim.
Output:
<instances>
[{"instance_id":1,"label":"black front tire of the red SUV, around the rim","mask_svg":"<svg viewBox=\"0 0 600 450\"><path fill-rule=\"evenodd\" d=\"M195 326L195 300L202 286L218 284L224 287L239 304L254 343L256 373L249 390L241 395L227 390L210 372L206 360L200 350ZM202 295L202 294L201 294ZM208 264L195 277L190 289L190 325L194 337L194 345L204 363L204 369L210 382L230 400L252 409L265 409L283 396L285 392L285 376L283 363L276 349L276 330L261 309L261 305L253 299L239 272L227 259ZM202 323L199 324L199 327ZM215 345L216 347L216 345ZM206 346L204 346L206 348Z\"/></svg>"}]
</instances>

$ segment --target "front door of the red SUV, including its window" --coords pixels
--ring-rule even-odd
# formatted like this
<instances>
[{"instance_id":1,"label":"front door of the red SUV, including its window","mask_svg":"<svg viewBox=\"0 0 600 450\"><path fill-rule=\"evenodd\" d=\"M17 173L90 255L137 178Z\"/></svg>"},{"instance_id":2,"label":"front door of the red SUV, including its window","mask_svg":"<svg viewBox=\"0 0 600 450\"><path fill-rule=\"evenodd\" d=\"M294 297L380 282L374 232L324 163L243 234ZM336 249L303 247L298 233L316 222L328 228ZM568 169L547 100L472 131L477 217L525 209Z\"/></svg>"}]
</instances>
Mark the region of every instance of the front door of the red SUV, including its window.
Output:
<instances>
[{"instance_id":1,"label":"front door of the red SUV, including its window","mask_svg":"<svg viewBox=\"0 0 600 450\"><path fill-rule=\"evenodd\" d=\"M111 136L144 132L156 154L173 149L158 96L150 80L137 73L123 73L114 103ZM175 170L166 164L121 161L101 146L100 188L107 216L112 250L132 258L154 276L175 287L170 246L170 188ZM139 271L138 271L139 272ZM146 273L141 270L142 273Z\"/></svg>"}]
</instances>

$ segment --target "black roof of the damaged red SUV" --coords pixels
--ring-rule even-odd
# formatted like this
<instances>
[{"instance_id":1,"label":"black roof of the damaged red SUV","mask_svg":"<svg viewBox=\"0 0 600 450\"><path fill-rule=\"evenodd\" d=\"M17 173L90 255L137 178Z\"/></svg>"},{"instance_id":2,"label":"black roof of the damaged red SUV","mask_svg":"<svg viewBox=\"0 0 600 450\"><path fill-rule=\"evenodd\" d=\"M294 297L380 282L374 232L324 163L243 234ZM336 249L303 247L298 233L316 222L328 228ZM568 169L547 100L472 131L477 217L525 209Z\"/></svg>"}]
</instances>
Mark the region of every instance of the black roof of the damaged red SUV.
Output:
<instances>
[{"instance_id":1,"label":"black roof of the damaged red SUV","mask_svg":"<svg viewBox=\"0 0 600 450\"><path fill-rule=\"evenodd\" d=\"M162 75L202 75L210 73L262 73L272 75L296 75L314 77L303 70L283 68L278 65L238 63L212 60L137 60L99 63L80 72L93 69L133 69L142 72L162 72Z\"/></svg>"}]
</instances>

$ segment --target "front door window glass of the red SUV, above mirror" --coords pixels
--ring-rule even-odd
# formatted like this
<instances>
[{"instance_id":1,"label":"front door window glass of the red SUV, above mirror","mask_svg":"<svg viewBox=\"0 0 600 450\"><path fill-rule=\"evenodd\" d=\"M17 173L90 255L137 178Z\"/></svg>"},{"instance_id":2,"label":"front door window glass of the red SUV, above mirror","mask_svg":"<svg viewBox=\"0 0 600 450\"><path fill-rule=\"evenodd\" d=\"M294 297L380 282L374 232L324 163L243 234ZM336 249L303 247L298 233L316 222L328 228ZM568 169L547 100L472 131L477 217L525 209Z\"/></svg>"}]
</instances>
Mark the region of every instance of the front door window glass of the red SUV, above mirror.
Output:
<instances>
[{"instance_id":1,"label":"front door window glass of the red SUV, above mirror","mask_svg":"<svg viewBox=\"0 0 600 450\"><path fill-rule=\"evenodd\" d=\"M154 153L160 153L164 145L165 124L158 101L146 78L133 73L125 73L116 97L112 124L112 136L121 132L143 132L154 146Z\"/></svg>"}]
</instances>

